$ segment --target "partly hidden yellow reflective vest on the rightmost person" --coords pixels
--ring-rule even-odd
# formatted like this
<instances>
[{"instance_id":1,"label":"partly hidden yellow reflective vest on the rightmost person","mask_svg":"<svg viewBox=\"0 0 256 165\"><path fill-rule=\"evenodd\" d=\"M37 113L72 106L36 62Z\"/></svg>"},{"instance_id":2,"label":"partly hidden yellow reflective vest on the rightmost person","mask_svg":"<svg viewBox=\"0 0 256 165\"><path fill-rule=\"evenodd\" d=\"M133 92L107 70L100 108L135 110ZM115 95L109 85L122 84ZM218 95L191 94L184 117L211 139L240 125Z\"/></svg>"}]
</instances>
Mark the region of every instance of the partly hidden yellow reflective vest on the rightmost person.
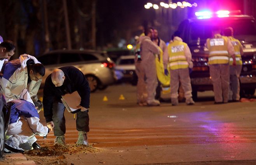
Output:
<instances>
[{"instance_id":1,"label":"partly hidden yellow reflective vest on the rightmost person","mask_svg":"<svg viewBox=\"0 0 256 165\"><path fill-rule=\"evenodd\" d=\"M242 46L240 41L235 39L234 37L232 36L229 36L228 37L235 49L235 61L237 61L237 65L242 65L243 62L242 62L242 57L241 57L241 54L240 54L240 47ZM229 64L232 65L233 64L233 58L230 57L229 59Z\"/></svg>"}]
</instances>

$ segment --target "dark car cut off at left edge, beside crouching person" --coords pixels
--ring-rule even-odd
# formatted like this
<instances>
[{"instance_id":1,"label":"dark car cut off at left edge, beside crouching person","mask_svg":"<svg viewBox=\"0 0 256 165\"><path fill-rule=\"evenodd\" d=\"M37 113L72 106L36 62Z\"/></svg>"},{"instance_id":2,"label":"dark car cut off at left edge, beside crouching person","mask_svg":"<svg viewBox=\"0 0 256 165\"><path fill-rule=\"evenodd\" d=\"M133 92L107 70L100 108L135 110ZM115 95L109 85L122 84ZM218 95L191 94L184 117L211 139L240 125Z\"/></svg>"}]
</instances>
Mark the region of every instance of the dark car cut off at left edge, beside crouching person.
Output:
<instances>
[{"instance_id":1,"label":"dark car cut off at left edge, beside crouching person","mask_svg":"<svg viewBox=\"0 0 256 165\"><path fill-rule=\"evenodd\" d=\"M6 104L2 82L0 82L0 157L4 155L5 134L9 126L10 115L11 106Z\"/></svg>"}]
</instances>

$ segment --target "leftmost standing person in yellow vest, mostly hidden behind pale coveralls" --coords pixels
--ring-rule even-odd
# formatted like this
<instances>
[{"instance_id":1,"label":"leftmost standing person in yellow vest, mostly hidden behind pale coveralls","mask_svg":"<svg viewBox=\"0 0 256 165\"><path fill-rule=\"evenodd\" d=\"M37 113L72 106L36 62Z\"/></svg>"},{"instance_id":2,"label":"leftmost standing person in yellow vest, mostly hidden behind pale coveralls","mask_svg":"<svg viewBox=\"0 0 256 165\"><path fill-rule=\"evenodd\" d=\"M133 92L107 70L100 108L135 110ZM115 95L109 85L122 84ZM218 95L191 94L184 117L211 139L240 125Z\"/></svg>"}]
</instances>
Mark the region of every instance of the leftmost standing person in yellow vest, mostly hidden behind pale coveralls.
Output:
<instances>
[{"instance_id":1,"label":"leftmost standing person in yellow vest, mostly hidden behind pale coveralls","mask_svg":"<svg viewBox=\"0 0 256 165\"><path fill-rule=\"evenodd\" d=\"M137 83L137 103L140 106L146 106L147 105L147 89L146 89L146 82L145 82L145 73L143 71L142 65L141 65L141 55L140 55L140 37L145 36L144 33L142 33L140 36L136 36L136 47L135 47L135 72L138 77L138 83Z\"/></svg>"}]
</instances>

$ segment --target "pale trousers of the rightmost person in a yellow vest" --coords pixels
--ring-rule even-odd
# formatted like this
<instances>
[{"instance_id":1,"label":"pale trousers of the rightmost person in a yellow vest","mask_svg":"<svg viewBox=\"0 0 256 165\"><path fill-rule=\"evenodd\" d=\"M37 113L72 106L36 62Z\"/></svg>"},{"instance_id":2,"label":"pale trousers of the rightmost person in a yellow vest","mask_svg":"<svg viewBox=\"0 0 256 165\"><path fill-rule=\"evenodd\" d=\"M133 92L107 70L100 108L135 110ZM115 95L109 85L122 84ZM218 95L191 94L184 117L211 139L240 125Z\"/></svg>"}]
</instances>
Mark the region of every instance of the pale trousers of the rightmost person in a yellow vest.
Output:
<instances>
[{"instance_id":1,"label":"pale trousers of the rightmost person in a yellow vest","mask_svg":"<svg viewBox=\"0 0 256 165\"><path fill-rule=\"evenodd\" d=\"M239 76L242 70L242 65L230 65L230 90L229 90L229 100L239 100L240 99L240 83Z\"/></svg>"}]
</instances>

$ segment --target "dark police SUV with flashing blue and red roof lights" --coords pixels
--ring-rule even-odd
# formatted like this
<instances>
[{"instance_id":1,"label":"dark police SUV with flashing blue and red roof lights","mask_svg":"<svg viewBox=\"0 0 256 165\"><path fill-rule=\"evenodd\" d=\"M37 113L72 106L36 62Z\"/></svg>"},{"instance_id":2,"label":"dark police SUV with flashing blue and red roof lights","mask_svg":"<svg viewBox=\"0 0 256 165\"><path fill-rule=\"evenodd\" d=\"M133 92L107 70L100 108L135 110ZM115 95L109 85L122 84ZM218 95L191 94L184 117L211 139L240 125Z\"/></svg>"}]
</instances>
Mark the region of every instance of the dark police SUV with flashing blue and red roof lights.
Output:
<instances>
[{"instance_id":1,"label":"dark police SUV with flashing blue and red roof lights","mask_svg":"<svg viewBox=\"0 0 256 165\"><path fill-rule=\"evenodd\" d=\"M188 43L194 64L190 74L192 94L194 99L198 91L213 90L209 74L209 50L204 46L206 39L211 37L213 26L222 30L232 27L234 37L243 45L242 72L240 75L240 95L254 94L256 89L256 24L251 16L241 15L239 12L225 11L224 15L215 13L197 13L197 18L186 19L179 25L181 38ZM210 13L210 15L206 15ZM216 12L217 13L217 12ZM220 12L219 12L220 13Z\"/></svg>"}]
</instances>

